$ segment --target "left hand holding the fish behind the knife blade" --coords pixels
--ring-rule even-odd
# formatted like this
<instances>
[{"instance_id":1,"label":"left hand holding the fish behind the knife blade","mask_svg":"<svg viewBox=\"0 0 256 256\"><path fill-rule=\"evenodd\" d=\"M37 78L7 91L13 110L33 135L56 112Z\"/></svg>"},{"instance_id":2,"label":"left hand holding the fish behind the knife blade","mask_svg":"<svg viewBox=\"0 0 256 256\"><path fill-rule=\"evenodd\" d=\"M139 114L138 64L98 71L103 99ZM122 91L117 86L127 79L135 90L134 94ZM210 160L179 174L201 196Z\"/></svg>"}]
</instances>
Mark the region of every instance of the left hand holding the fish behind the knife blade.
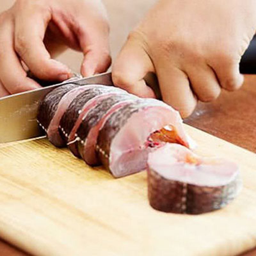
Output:
<instances>
[{"instance_id":1,"label":"left hand holding the fish behind the knife blade","mask_svg":"<svg viewBox=\"0 0 256 256\"><path fill-rule=\"evenodd\" d=\"M67 47L84 53L83 76L104 72L111 59L100 0L17 0L0 15L0 97L40 87L27 77L63 81L68 67L53 60Z\"/></svg>"}]
</instances>

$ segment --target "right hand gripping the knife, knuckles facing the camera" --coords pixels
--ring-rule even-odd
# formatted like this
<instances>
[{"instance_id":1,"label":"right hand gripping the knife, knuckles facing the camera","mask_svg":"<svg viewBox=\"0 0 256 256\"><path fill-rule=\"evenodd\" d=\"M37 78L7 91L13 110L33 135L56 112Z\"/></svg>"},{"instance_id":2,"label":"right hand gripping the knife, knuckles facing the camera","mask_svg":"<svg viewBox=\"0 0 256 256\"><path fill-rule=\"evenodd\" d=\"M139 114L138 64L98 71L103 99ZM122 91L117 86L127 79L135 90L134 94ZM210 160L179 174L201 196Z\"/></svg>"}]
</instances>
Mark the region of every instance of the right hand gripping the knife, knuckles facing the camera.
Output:
<instances>
[{"instance_id":1,"label":"right hand gripping the knife, knuckles facing the camera","mask_svg":"<svg viewBox=\"0 0 256 256\"><path fill-rule=\"evenodd\" d=\"M163 100L189 116L197 99L243 83L241 56L256 29L252 0L160 0L129 35L113 66L116 85L154 97L143 77L157 74Z\"/></svg>"}]
</instances>

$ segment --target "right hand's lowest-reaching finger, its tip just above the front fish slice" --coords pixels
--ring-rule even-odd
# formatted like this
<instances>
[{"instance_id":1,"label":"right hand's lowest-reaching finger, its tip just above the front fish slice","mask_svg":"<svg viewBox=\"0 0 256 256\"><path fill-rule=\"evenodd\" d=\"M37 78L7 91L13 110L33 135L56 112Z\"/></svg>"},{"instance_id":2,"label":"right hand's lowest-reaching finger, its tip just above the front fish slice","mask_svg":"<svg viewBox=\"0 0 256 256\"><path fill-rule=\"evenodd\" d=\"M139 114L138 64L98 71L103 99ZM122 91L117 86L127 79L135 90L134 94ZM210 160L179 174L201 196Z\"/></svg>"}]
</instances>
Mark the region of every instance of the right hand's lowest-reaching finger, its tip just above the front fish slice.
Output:
<instances>
[{"instance_id":1,"label":"right hand's lowest-reaching finger, its tip just above the front fish slice","mask_svg":"<svg viewBox=\"0 0 256 256\"><path fill-rule=\"evenodd\" d=\"M168 60L156 65L156 73L164 102L171 105L185 118L196 107L196 96L190 89L188 76L179 68L170 66Z\"/></svg>"}]
</instances>

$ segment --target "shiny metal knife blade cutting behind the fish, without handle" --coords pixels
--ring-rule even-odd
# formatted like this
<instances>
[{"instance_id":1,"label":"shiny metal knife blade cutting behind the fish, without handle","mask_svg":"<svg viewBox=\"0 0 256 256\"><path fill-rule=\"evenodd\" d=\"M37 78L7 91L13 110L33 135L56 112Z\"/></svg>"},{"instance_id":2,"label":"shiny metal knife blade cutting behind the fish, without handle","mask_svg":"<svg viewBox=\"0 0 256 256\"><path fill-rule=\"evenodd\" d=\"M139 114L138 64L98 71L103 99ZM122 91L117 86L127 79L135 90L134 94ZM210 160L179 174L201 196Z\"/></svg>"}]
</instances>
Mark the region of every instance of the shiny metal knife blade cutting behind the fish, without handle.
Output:
<instances>
[{"instance_id":1,"label":"shiny metal knife blade cutting behind the fish, without handle","mask_svg":"<svg viewBox=\"0 0 256 256\"><path fill-rule=\"evenodd\" d=\"M0 143L25 140L42 136L36 116L40 101L54 88L64 84L104 84L113 85L111 73L64 81L30 92L22 92L0 99Z\"/></svg>"}]
</instances>

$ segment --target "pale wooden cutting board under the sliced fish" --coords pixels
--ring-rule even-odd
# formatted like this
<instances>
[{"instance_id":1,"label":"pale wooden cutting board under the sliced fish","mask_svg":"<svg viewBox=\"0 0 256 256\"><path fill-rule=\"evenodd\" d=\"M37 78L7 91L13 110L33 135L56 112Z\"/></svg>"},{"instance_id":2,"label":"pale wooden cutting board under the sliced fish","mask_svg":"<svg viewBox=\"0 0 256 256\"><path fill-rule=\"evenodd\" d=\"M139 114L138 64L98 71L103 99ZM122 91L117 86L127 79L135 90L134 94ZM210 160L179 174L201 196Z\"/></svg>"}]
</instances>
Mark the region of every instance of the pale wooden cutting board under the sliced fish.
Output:
<instances>
[{"instance_id":1,"label":"pale wooden cutting board under the sliced fish","mask_svg":"<svg viewBox=\"0 0 256 256\"><path fill-rule=\"evenodd\" d=\"M114 179L46 139L0 145L0 236L35 255L237 255L256 246L256 155L185 125L203 156L241 166L244 188L202 215L158 212L146 172Z\"/></svg>"}]
</instances>

